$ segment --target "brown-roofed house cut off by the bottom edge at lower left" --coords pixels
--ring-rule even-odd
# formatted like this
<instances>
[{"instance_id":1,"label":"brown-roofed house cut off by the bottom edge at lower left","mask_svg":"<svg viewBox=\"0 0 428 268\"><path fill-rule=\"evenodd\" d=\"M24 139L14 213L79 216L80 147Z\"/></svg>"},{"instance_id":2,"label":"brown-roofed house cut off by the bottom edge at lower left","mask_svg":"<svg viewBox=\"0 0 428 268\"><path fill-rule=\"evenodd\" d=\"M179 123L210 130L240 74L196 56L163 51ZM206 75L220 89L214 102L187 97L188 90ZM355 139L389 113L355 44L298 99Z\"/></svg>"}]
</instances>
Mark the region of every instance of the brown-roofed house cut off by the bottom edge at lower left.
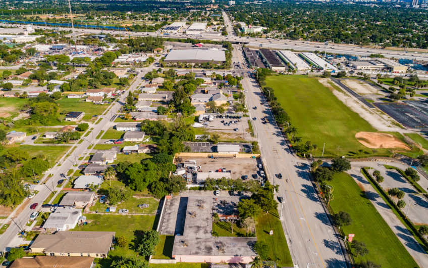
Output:
<instances>
[{"instance_id":1,"label":"brown-roofed house cut off by the bottom edge at lower left","mask_svg":"<svg viewBox=\"0 0 428 268\"><path fill-rule=\"evenodd\" d=\"M94 257L81 256L40 256L19 258L12 262L11 268L92 268Z\"/></svg>"}]
</instances>

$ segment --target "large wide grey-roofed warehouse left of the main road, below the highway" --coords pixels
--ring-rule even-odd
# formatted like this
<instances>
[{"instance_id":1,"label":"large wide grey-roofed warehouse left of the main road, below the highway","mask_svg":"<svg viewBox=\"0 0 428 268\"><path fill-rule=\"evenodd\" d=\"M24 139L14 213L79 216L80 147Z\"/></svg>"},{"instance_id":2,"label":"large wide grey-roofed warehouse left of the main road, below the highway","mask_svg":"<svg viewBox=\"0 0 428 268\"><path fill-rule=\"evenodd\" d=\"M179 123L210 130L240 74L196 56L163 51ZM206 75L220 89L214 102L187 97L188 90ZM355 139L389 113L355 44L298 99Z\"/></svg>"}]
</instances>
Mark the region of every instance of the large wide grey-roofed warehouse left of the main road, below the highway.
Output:
<instances>
[{"instance_id":1,"label":"large wide grey-roofed warehouse left of the main road, below the highway","mask_svg":"<svg viewBox=\"0 0 428 268\"><path fill-rule=\"evenodd\" d=\"M164 62L187 62L187 63L204 63L213 62L215 64L222 64L226 61L225 52L222 50L203 50L203 49L189 49L189 50L172 50L168 53Z\"/></svg>"}]
</instances>

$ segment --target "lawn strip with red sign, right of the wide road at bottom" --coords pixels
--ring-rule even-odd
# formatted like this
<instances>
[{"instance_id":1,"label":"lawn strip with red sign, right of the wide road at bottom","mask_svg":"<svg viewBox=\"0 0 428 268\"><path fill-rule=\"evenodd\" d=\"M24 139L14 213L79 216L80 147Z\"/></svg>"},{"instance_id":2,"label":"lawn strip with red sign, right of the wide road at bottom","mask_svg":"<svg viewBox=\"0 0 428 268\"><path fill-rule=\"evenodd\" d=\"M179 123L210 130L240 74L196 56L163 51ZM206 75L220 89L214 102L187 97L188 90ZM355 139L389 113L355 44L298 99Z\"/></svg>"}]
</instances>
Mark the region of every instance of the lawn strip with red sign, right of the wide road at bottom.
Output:
<instances>
[{"instance_id":1,"label":"lawn strip with red sign, right of the wide road at bottom","mask_svg":"<svg viewBox=\"0 0 428 268\"><path fill-rule=\"evenodd\" d=\"M347 173L335 174L328 182L334 189L330 204L335 213L345 211L352 218L352 225L342 227L345 234L355 234L354 239L364 242L368 254L355 257L357 263L371 260L382 267L418 267L416 262L392 232L379 212L367 199L353 178Z\"/></svg>"}]
</instances>

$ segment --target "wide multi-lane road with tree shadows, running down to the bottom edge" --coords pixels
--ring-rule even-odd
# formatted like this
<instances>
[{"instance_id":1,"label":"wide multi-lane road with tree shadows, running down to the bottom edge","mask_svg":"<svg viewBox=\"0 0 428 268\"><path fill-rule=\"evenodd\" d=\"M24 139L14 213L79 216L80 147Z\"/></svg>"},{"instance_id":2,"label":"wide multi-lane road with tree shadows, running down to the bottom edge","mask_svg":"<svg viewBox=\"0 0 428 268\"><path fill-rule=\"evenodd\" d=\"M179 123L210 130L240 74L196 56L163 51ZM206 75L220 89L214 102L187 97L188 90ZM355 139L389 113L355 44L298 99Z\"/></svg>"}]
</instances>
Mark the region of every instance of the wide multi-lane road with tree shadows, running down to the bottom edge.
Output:
<instances>
[{"instance_id":1,"label":"wide multi-lane road with tree shadows, running down to the bottom edge","mask_svg":"<svg viewBox=\"0 0 428 268\"><path fill-rule=\"evenodd\" d=\"M237 46L233 51L233 61L240 61L246 66ZM248 75L248 69L244 67L236 71L244 76L242 84L247 90L246 101L251 118L256 118L252 123L264 168L269 181L279 185L277 196L283 196L285 200L282 224L294 264L299 267L308 263L312 267L346 267L338 236L309 178L308 163L298 160L290 152L256 81ZM262 117L269 123L262 124ZM276 177L278 173L282 174L282 179Z\"/></svg>"}]
</instances>

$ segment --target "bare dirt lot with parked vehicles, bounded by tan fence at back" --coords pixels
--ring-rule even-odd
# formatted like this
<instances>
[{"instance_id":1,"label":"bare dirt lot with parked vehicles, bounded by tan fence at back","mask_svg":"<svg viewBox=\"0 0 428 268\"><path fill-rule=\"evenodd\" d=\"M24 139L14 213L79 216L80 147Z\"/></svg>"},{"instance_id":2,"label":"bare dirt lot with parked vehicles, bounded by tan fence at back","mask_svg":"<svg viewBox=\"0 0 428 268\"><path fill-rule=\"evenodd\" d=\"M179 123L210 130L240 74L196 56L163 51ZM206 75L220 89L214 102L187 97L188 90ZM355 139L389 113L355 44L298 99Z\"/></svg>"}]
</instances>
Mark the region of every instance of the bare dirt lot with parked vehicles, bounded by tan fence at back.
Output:
<instances>
[{"instance_id":1,"label":"bare dirt lot with parked vehicles, bounded by tan fence at back","mask_svg":"<svg viewBox=\"0 0 428 268\"><path fill-rule=\"evenodd\" d=\"M183 161L195 160L197 165L201 166L203 172L214 171L219 168L226 168L232 172L232 178L239 178L243 175L251 177L252 174L258 174L257 164L261 163L258 158L219 158L211 159L208 157L181 157Z\"/></svg>"}]
</instances>

